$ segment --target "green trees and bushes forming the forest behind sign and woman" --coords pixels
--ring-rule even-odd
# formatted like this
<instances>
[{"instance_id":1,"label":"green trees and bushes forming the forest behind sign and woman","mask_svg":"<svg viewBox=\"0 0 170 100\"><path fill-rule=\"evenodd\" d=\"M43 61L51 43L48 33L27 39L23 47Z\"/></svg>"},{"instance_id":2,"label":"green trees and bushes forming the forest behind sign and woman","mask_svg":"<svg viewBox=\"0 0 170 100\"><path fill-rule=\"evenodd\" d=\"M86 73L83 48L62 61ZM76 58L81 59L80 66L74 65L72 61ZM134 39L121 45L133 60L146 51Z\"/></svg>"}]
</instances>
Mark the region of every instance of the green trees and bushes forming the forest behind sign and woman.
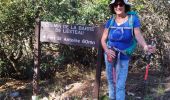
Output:
<instances>
[{"instance_id":1,"label":"green trees and bushes forming the forest behind sign and woman","mask_svg":"<svg viewBox=\"0 0 170 100\"><path fill-rule=\"evenodd\" d=\"M99 25L111 14L109 0L0 0L0 77L31 80L34 66L35 14L42 21ZM146 41L156 42L151 72L166 77L170 72L170 1L131 0L138 12L141 32ZM41 44L40 79L65 79L57 84L73 83L85 77L83 72L95 73L97 50L54 43ZM132 57L131 73L145 69L142 48ZM103 65L103 70L104 70ZM62 72L67 72L62 73ZM55 79L54 79L55 77ZM74 81L73 81L74 80ZM56 80L57 81L57 80ZM162 80L160 80L162 82Z\"/></svg>"}]
</instances>

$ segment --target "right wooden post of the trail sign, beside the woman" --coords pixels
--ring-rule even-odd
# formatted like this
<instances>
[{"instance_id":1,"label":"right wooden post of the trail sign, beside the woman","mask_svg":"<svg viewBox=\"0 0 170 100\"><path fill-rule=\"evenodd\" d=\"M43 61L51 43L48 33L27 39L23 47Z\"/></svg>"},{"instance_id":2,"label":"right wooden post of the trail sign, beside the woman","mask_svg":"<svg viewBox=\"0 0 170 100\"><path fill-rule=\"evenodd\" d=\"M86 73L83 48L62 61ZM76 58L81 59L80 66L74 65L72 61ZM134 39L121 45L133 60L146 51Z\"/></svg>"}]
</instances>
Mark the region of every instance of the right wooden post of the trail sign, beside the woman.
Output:
<instances>
[{"instance_id":1,"label":"right wooden post of the trail sign, beside the woman","mask_svg":"<svg viewBox=\"0 0 170 100\"><path fill-rule=\"evenodd\" d=\"M101 46L101 33L103 32L103 26L101 25L97 33L99 35L99 47L98 47L98 53L97 53L97 67L96 67L96 77L95 77L95 86L93 90L93 98L99 100L99 92L100 92L100 79L101 79L101 68L102 68L102 60L103 60L103 49Z\"/></svg>"}]
</instances>

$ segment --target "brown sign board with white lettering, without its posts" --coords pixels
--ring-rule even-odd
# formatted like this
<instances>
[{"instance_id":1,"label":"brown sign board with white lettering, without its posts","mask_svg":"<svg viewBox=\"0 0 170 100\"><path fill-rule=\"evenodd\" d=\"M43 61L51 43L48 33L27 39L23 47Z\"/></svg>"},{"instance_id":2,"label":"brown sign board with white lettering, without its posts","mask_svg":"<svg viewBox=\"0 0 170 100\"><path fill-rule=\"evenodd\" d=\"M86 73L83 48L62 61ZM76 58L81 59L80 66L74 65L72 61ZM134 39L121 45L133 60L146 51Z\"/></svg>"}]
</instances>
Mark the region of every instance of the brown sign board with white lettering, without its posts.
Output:
<instances>
[{"instance_id":1,"label":"brown sign board with white lettering, without its posts","mask_svg":"<svg viewBox=\"0 0 170 100\"><path fill-rule=\"evenodd\" d=\"M99 26L41 22L40 41L98 48L98 29Z\"/></svg>"}]
</instances>

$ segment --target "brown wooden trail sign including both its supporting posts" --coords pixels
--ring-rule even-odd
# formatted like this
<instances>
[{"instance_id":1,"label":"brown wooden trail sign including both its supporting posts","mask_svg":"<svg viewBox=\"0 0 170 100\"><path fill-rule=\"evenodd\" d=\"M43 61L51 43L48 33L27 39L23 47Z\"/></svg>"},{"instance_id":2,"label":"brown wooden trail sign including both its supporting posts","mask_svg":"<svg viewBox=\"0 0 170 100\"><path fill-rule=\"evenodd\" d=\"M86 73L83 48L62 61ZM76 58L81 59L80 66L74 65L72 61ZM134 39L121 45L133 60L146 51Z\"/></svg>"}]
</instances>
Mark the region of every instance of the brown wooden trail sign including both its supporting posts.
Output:
<instances>
[{"instance_id":1,"label":"brown wooden trail sign including both its supporting posts","mask_svg":"<svg viewBox=\"0 0 170 100\"><path fill-rule=\"evenodd\" d=\"M103 32L103 26L71 25L57 24L52 22L40 22L36 24L35 46L34 46L34 77L33 77L33 97L38 98L38 81L40 68L40 42L61 43L66 45L77 45L84 47L95 47L98 49L95 87L93 97L99 98L102 48L100 38Z\"/></svg>"}]
</instances>

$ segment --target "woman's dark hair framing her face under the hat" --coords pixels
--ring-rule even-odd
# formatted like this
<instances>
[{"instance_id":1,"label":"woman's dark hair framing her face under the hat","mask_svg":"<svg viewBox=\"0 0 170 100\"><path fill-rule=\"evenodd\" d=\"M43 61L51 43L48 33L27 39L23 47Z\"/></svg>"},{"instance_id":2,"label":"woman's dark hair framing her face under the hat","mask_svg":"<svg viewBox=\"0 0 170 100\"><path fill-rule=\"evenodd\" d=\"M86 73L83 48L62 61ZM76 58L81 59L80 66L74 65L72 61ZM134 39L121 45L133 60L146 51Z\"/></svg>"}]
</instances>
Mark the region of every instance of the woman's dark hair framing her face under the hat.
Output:
<instances>
[{"instance_id":1,"label":"woman's dark hair framing her face under the hat","mask_svg":"<svg viewBox=\"0 0 170 100\"><path fill-rule=\"evenodd\" d=\"M116 2L122 2L122 3L125 5L125 13L127 13L128 11L130 11L130 9L131 9L130 5L126 5L123 0L116 0L115 3L116 3ZM109 5L109 7L110 7L110 12L111 12L112 14L116 14L116 13L115 13L115 10L114 10L114 4L115 4L115 3Z\"/></svg>"}]
</instances>

